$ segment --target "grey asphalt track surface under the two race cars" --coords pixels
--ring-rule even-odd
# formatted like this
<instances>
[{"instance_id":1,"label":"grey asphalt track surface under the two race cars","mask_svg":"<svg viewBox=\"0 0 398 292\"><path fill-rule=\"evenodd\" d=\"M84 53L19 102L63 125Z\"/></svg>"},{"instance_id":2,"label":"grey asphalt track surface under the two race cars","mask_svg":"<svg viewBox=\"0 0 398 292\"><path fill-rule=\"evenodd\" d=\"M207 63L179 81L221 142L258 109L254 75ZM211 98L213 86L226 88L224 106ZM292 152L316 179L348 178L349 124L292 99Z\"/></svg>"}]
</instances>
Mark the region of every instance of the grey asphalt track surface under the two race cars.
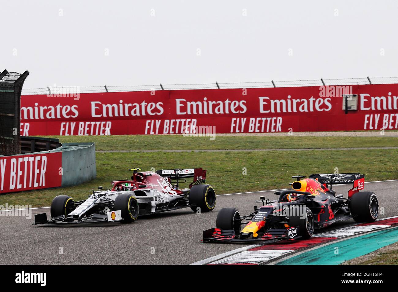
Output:
<instances>
[{"instance_id":1,"label":"grey asphalt track surface under the two race cars","mask_svg":"<svg viewBox=\"0 0 398 292\"><path fill-rule=\"evenodd\" d=\"M335 186L336 194L347 194L349 186ZM366 183L374 191L384 215L398 215L398 181ZM217 191L217 190L216 190ZM32 218L0 217L2 264L190 264L244 247L242 244L201 243L202 231L215 227L217 212L237 207L240 214L254 210L259 196L276 199L274 191L217 196L215 210L197 215L180 209L139 217L133 224L101 223L62 227L31 225L34 214L50 209L33 209ZM338 222L327 230L353 224ZM325 230L326 231L326 230ZM248 245L253 244L252 242ZM60 254L60 248L62 252Z\"/></svg>"}]
</instances>

